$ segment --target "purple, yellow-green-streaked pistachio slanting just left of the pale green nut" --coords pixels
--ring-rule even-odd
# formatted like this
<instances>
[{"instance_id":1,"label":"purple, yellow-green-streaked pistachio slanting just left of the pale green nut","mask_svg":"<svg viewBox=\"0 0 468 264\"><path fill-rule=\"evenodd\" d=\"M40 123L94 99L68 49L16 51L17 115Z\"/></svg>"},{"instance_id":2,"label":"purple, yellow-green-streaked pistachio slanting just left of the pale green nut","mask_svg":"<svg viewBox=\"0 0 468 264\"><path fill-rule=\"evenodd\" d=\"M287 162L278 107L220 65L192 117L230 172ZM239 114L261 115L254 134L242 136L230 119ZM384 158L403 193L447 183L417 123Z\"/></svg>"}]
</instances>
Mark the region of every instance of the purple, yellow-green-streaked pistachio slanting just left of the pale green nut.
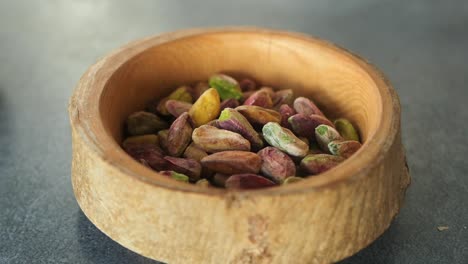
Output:
<instances>
[{"instance_id":1,"label":"purple, yellow-green-streaked pistachio slanting just left of the pale green nut","mask_svg":"<svg viewBox=\"0 0 468 264\"><path fill-rule=\"evenodd\" d=\"M255 131L249 121L232 108L226 108L221 112L217 123L219 128L239 133L250 142L253 149L261 149L263 140Z\"/></svg>"}]
</instances>

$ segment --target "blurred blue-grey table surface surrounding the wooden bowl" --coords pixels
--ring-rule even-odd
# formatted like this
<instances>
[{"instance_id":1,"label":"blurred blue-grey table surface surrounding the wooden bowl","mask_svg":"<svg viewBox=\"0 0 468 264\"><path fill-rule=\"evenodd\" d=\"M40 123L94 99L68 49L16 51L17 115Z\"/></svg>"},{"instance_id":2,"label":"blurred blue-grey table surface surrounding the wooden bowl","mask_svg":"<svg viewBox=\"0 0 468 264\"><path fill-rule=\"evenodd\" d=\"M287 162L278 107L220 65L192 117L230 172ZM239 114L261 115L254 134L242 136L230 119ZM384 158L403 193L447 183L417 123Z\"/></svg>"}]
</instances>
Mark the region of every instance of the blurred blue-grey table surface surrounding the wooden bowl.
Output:
<instances>
[{"instance_id":1,"label":"blurred blue-grey table surface surrounding the wooden bowl","mask_svg":"<svg viewBox=\"0 0 468 264\"><path fill-rule=\"evenodd\" d=\"M68 99L112 49L223 25L328 39L376 64L400 95L412 185L388 231L342 263L468 263L463 0L0 1L0 263L157 263L106 237L80 211Z\"/></svg>"}]
</instances>

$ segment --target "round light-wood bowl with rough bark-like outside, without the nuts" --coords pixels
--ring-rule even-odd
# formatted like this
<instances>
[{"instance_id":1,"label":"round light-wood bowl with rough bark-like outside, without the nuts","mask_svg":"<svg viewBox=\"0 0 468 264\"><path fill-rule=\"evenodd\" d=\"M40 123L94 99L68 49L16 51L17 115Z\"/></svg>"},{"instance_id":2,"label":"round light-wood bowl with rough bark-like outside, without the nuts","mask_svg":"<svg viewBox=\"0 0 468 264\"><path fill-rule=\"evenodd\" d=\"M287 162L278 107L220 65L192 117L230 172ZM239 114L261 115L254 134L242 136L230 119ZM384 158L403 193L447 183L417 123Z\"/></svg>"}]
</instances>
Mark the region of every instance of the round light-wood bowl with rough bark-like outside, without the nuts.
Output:
<instances>
[{"instance_id":1,"label":"round light-wood bowl with rough bark-like outside, without the nuts","mask_svg":"<svg viewBox=\"0 0 468 264\"><path fill-rule=\"evenodd\" d=\"M122 150L130 113L220 71L310 96L330 117L357 124L363 147L301 183L251 191L176 182ZM389 82L350 52L302 34L195 29L130 43L89 68L69 112L83 212L121 245L171 264L338 261L388 228L409 185Z\"/></svg>"}]
</instances>

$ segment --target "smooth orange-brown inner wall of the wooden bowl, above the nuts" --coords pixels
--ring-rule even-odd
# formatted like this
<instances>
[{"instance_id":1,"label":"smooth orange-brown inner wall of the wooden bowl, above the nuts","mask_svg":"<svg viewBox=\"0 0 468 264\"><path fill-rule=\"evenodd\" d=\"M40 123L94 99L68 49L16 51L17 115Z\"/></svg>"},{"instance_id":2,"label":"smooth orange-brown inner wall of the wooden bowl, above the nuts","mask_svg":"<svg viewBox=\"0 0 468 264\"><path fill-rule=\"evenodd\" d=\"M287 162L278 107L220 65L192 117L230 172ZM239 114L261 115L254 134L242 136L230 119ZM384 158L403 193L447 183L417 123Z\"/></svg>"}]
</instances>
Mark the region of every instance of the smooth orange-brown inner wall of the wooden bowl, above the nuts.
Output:
<instances>
[{"instance_id":1,"label":"smooth orange-brown inner wall of the wooden bowl, above the nuts","mask_svg":"<svg viewBox=\"0 0 468 264\"><path fill-rule=\"evenodd\" d=\"M227 72L312 98L329 118L350 119L367 143L382 119L382 98L374 79L356 60L323 41L280 33L185 36L148 48L121 65L102 91L99 112L108 135L120 145L130 113L179 85Z\"/></svg>"}]
</instances>

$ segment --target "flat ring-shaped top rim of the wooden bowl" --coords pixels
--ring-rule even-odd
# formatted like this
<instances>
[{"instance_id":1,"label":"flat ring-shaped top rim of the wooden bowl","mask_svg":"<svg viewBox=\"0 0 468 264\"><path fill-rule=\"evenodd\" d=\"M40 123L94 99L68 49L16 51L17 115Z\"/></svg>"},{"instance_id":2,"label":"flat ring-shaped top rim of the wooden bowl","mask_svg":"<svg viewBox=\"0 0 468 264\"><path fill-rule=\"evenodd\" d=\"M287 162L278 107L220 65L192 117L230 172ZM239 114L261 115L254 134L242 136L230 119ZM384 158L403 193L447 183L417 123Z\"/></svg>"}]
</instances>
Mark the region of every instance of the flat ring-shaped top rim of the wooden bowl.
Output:
<instances>
[{"instance_id":1,"label":"flat ring-shaped top rim of the wooden bowl","mask_svg":"<svg viewBox=\"0 0 468 264\"><path fill-rule=\"evenodd\" d=\"M314 42L351 59L357 66L368 74L378 89L381 100L381 118L379 118L380 121L375 133L366 140L357 153L329 171L310 177L307 180L302 181L301 184L290 184L254 190L203 188L194 184L180 183L168 179L167 177L164 177L142 165L133 166L135 167L133 169L128 166L123 166L121 160L113 159L112 155L108 155L108 151L104 149L100 143L103 142L101 140L109 140L112 137L107 133L96 133L97 131L103 132L105 128L102 126L102 122L101 124L96 124L93 120L96 116L100 117L100 99L106 88L107 81L112 77L112 75L129 59L138 56L145 50L154 46L200 35L226 33L263 34L268 35L270 38L281 36L296 39L298 41ZM96 92L98 92L98 96L96 96ZM386 154L389 152L390 147L393 145L393 142L396 140L396 135L400 129L400 102L398 95L384 74L374 65L345 48L311 35L258 27L185 29L130 42L98 60L83 74L75 87L72 97L70 98L68 112L73 131L76 132L77 136L80 137L88 147L90 147L90 150L93 151L98 158L111 167L115 167L126 175L156 187L167 188L174 191L216 196L229 196L233 193L243 193L246 195L283 195L310 191L315 192L332 188L338 184L348 184L352 181L359 180L382 162ZM104 138L105 136L108 138ZM115 139L112 138L112 141L115 142ZM118 143L116 144L119 145ZM126 153L120 148L116 155L121 155L122 158L126 156ZM135 164L138 163L135 162Z\"/></svg>"}]
</instances>

